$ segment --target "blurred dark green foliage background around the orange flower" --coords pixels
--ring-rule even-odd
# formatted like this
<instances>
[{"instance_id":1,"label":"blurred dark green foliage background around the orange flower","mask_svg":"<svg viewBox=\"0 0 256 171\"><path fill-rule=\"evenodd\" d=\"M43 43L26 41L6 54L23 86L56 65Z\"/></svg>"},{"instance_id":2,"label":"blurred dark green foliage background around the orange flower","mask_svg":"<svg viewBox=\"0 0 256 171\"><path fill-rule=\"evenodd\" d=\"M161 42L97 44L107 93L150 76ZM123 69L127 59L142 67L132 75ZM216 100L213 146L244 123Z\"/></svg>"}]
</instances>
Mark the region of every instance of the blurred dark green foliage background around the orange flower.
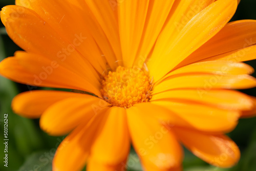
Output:
<instances>
[{"instance_id":1,"label":"blurred dark green foliage background around the orange flower","mask_svg":"<svg viewBox=\"0 0 256 171\"><path fill-rule=\"evenodd\" d=\"M14 0L0 0L0 6L14 4ZM256 19L256 1L241 0L237 13L232 20ZM255 30L256 31L256 30ZM0 24L0 61L8 56L12 56L20 50L8 37L3 24ZM256 68L256 60L247 62ZM256 74L253 74L256 76ZM256 96L256 89L244 90L243 92ZM0 77L0 170L10 171L50 171L53 155L56 147L64 137L51 137L42 132L39 128L38 120L30 120L15 115L11 110L12 98L20 93L28 91L27 86L12 82ZM4 135L3 119L8 113L8 168L2 162L4 158ZM256 118L241 119L237 128L229 133L229 136L239 145L241 149L241 160L233 168L217 168L210 166L201 159L195 157L185 149L183 162L185 171L254 171L256 170ZM140 171L141 165L138 156L132 149L129 161L127 162L129 171ZM85 169L84 169L85 170Z\"/></svg>"}]
</instances>

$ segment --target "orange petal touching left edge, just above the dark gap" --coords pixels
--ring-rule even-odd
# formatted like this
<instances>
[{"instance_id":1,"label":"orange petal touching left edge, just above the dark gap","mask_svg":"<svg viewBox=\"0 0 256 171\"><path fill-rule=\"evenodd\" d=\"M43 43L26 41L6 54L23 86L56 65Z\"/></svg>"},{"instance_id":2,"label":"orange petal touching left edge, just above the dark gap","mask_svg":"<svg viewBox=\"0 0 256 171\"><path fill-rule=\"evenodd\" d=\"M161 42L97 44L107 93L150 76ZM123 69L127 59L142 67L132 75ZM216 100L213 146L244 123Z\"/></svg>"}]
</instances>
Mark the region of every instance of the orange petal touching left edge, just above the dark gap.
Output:
<instances>
[{"instance_id":1,"label":"orange petal touching left edge, just above the dark gap","mask_svg":"<svg viewBox=\"0 0 256 171\"><path fill-rule=\"evenodd\" d=\"M25 52L15 53L0 63L0 74L17 82L36 87L76 89L101 96L99 82L89 82L57 60L49 60L39 55ZM88 75L90 75L88 73Z\"/></svg>"}]
</instances>

